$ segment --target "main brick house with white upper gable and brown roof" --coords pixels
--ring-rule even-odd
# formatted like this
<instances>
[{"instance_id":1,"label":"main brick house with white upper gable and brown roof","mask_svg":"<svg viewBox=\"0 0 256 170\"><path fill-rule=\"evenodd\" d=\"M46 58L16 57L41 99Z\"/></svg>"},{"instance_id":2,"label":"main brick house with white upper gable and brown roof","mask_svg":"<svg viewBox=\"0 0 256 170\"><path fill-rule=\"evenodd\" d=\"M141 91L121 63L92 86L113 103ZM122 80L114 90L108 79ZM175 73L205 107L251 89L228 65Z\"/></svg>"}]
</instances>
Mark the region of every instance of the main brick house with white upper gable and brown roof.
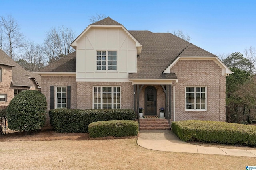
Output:
<instances>
[{"instance_id":1,"label":"main brick house with white upper gable and brown roof","mask_svg":"<svg viewBox=\"0 0 256 170\"><path fill-rule=\"evenodd\" d=\"M170 121L225 121L226 76L216 55L171 33L128 31L105 18L71 44L76 50L46 66L42 93L54 108L165 109ZM49 125L49 121L48 121Z\"/></svg>"}]
</instances>

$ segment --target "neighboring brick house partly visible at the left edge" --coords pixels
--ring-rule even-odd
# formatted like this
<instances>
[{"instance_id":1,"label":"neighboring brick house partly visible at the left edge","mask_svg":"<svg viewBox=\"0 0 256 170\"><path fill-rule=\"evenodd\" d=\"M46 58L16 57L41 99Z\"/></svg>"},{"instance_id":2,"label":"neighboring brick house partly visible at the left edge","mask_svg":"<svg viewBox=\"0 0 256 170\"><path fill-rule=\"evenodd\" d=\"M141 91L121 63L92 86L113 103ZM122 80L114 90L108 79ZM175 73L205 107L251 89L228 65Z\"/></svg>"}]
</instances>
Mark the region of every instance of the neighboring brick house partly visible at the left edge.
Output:
<instances>
[{"instance_id":1,"label":"neighboring brick house partly visible at the left edge","mask_svg":"<svg viewBox=\"0 0 256 170\"><path fill-rule=\"evenodd\" d=\"M41 90L41 77L27 71L0 49L0 106L23 90Z\"/></svg>"}]
</instances>

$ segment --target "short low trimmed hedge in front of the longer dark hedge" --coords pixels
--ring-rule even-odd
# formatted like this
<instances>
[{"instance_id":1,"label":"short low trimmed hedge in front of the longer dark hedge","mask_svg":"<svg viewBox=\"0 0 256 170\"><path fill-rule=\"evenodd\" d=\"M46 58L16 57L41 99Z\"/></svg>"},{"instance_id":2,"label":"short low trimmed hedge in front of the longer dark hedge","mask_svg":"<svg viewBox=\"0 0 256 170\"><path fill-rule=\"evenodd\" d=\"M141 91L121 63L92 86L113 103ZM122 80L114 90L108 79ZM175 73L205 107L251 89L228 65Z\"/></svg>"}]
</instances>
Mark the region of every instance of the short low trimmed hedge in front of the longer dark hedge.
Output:
<instances>
[{"instance_id":1,"label":"short low trimmed hedge in front of the longer dark hedge","mask_svg":"<svg viewBox=\"0 0 256 170\"><path fill-rule=\"evenodd\" d=\"M137 136L139 132L139 124L132 120L111 120L98 121L89 124L88 127L90 137L123 137Z\"/></svg>"}]
</instances>

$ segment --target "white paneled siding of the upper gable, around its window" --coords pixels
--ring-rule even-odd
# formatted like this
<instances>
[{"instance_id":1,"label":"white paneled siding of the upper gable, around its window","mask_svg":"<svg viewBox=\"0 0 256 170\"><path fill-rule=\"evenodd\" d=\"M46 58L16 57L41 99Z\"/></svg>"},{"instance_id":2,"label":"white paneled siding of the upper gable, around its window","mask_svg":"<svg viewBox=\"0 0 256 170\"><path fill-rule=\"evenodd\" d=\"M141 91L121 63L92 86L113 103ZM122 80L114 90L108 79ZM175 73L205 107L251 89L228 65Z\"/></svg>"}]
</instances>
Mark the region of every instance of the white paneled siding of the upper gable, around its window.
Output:
<instances>
[{"instance_id":1,"label":"white paneled siding of the upper gable, around its window","mask_svg":"<svg viewBox=\"0 0 256 170\"><path fill-rule=\"evenodd\" d=\"M97 51L117 51L117 70L97 70ZM128 81L136 73L136 42L122 27L91 27L76 41L77 81Z\"/></svg>"}]
</instances>

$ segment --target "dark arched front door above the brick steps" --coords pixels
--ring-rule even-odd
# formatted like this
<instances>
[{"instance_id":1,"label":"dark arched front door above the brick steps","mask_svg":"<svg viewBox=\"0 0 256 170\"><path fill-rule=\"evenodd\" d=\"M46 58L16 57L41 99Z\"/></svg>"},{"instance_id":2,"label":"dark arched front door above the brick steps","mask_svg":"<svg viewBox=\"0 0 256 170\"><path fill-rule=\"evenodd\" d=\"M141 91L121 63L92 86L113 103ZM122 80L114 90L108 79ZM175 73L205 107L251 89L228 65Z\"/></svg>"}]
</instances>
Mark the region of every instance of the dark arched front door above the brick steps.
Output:
<instances>
[{"instance_id":1,"label":"dark arched front door above the brick steps","mask_svg":"<svg viewBox=\"0 0 256 170\"><path fill-rule=\"evenodd\" d=\"M145 115L156 115L156 88L148 86L145 89Z\"/></svg>"}]
</instances>

